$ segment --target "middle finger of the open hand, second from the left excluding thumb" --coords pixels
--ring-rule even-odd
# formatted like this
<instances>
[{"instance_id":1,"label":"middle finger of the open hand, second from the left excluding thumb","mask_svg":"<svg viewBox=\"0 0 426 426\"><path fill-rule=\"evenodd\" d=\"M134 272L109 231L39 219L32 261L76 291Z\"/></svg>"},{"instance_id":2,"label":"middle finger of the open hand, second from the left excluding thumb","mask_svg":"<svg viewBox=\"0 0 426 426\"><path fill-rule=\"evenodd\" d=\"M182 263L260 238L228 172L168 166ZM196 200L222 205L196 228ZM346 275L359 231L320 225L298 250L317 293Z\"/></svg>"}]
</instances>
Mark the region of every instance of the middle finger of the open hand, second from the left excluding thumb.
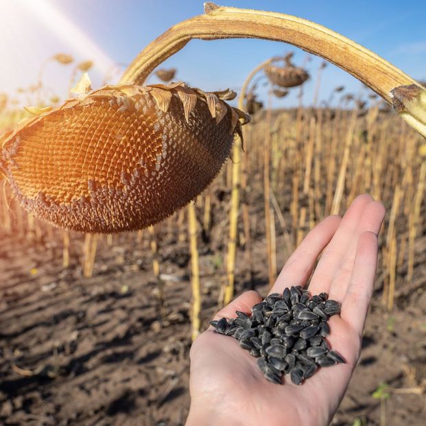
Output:
<instances>
[{"instance_id":1,"label":"middle finger of the open hand, second from the left excluding thumb","mask_svg":"<svg viewBox=\"0 0 426 426\"><path fill-rule=\"evenodd\" d=\"M322 253L316 270L313 272L309 283L309 290L312 294L329 292L335 270L339 268L359 220L370 202L372 202L372 198L366 194L357 196L342 217L338 230L336 230L330 244Z\"/></svg>"}]
</instances>

